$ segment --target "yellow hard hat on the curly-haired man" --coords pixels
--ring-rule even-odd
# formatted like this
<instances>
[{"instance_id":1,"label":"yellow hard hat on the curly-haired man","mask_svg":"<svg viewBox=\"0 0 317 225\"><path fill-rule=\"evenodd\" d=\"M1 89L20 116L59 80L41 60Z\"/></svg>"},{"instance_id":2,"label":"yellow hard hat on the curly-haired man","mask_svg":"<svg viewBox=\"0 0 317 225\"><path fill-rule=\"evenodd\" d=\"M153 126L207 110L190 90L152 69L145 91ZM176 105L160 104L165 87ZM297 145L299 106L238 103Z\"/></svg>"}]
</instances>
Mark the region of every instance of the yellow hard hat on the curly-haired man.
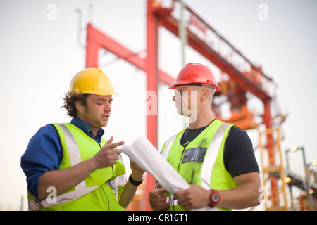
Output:
<instances>
[{"instance_id":1,"label":"yellow hard hat on the curly-haired man","mask_svg":"<svg viewBox=\"0 0 317 225\"><path fill-rule=\"evenodd\" d=\"M70 81L69 91L80 91L99 96L118 94L116 91L113 91L113 86L108 75L99 68L87 68L77 72Z\"/></svg>"}]
</instances>

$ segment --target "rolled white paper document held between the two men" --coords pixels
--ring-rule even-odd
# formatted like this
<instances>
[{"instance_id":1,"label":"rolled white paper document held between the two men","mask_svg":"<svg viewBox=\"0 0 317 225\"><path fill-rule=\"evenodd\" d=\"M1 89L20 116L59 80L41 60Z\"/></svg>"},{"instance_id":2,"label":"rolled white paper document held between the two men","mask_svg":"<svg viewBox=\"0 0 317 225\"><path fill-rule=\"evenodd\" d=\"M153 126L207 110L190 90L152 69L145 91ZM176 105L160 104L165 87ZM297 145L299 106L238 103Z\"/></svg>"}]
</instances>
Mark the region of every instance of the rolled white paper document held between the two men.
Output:
<instances>
[{"instance_id":1,"label":"rolled white paper document held between the two men","mask_svg":"<svg viewBox=\"0 0 317 225\"><path fill-rule=\"evenodd\" d=\"M130 160L139 167L154 176L166 191L175 193L189 188L189 184L163 158L146 137L140 136L131 146L124 144L121 151L128 155Z\"/></svg>"}]
</instances>

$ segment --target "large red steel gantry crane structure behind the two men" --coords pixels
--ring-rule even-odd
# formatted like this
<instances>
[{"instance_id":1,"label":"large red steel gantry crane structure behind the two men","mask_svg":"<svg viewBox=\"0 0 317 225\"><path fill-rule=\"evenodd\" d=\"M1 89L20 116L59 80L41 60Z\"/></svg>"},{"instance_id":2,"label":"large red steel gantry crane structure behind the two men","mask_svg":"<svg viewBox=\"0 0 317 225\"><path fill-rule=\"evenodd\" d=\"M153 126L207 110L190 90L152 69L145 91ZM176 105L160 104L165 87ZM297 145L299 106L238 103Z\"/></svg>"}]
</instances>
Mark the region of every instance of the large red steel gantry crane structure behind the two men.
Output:
<instances>
[{"instance_id":1,"label":"large red steel gantry crane structure behind the two men","mask_svg":"<svg viewBox=\"0 0 317 225\"><path fill-rule=\"evenodd\" d=\"M180 9L182 18L180 18ZM180 23L182 21L182 23ZM92 23L87 25L86 68L98 66L98 51L107 51L126 60L147 74L147 91L158 93L159 83L170 85L174 78L159 68L159 31L165 28L176 37L185 30L185 43L204 56L221 71L220 86L222 90L217 98L225 101L213 103L213 113L219 120L236 124L241 129L260 130L259 148L262 158L263 183L268 186L264 191L266 210L287 210L285 194L285 171L280 150L280 124L286 116L276 113L278 124L273 127L275 117L272 110L278 110L275 96L276 85L271 77L265 75L260 66L251 63L246 56L229 43L211 25L206 23L189 6L178 0L171 0L164 6L161 1L147 0L147 56L142 58L125 46L97 30ZM182 40L184 41L184 40ZM254 113L247 108L247 93L251 93L263 103L263 120L254 122ZM214 101L216 102L216 101ZM220 102L220 103L219 103ZM221 105L230 103L230 118L223 118ZM157 115L147 115L147 138L157 148ZM263 126L259 126L262 125ZM266 155L266 156L264 156ZM277 175L278 174L278 175ZM146 175L145 184L139 187L139 194L132 202L133 210L151 210L147 198L154 189L154 177ZM282 195L282 198L280 198Z\"/></svg>"}]
</instances>

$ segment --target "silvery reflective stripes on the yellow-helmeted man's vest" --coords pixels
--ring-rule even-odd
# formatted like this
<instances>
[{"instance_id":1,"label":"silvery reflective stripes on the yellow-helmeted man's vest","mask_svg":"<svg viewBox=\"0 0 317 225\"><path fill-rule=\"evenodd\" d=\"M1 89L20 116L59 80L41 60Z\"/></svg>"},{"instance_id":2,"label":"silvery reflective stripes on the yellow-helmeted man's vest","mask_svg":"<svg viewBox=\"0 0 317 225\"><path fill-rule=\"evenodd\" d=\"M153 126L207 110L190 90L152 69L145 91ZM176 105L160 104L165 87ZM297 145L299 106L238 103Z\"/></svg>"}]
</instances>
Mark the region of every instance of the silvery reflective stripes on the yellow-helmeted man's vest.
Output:
<instances>
[{"instance_id":1,"label":"silvery reflective stripes on the yellow-helmeted man's vest","mask_svg":"<svg viewBox=\"0 0 317 225\"><path fill-rule=\"evenodd\" d=\"M70 132L68 127L64 124L58 124L59 127L61 127L63 134L66 139L66 144L68 148L68 154L69 154L69 159L70 159L70 166L73 167L74 165L77 165L78 163L82 162L81 159L81 154L80 154L80 149L77 146L77 142L75 141L75 138L73 134ZM122 159L120 159L122 160ZM117 179L118 178L118 179ZM122 183L118 182L118 180L123 180L122 176L116 177L111 183ZM110 182L110 181L109 181ZM124 185L124 184L123 184ZM110 185L109 185L110 186ZM114 185L111 185L111 188L113 188ZM87 193L94 191L96 188L99 186L86 186L86 180L84 179L81 181L79 184L75 186L75 191L69 191L67 193L63 193L61 195L58 195L54 198L45 198L42 201L39 201L37 199L35 200L29 200L29 210L39 210L40 208L46 208L46 207L51 207L53 205L58 205L61 203L66 203L68 201L72 200L77 200L78 198L82 197L83 195L86 195ZM113 188L113 189L118 189ZM116 195L118 195L118 190L113 190L116 191Z\"/></svg>"}]
</instances>

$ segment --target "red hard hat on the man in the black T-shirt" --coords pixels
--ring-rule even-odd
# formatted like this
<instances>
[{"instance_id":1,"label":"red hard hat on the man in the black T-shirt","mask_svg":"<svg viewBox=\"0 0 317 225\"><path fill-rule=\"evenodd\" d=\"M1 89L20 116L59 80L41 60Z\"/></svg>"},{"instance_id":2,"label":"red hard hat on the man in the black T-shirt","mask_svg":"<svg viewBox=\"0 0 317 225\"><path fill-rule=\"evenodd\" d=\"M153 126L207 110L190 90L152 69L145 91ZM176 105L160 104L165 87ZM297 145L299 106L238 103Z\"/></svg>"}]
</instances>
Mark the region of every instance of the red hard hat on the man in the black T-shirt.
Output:
<instances>
[{"instance_id":1,"label":"red hard hat on the man in the black T-shirt","mask_svg":"<svg viewBox=\"0 0 317 225\"><path fill-rule=\"evenodd\" d=\"M221 90L211 69L200 63L188 63L185 65L185 67L178 73L175 82L169 86L169 89L175 89L175 86L178 85L195 83L211 84L216 87L216 91Z\"/></svg>"}]
</instances>

